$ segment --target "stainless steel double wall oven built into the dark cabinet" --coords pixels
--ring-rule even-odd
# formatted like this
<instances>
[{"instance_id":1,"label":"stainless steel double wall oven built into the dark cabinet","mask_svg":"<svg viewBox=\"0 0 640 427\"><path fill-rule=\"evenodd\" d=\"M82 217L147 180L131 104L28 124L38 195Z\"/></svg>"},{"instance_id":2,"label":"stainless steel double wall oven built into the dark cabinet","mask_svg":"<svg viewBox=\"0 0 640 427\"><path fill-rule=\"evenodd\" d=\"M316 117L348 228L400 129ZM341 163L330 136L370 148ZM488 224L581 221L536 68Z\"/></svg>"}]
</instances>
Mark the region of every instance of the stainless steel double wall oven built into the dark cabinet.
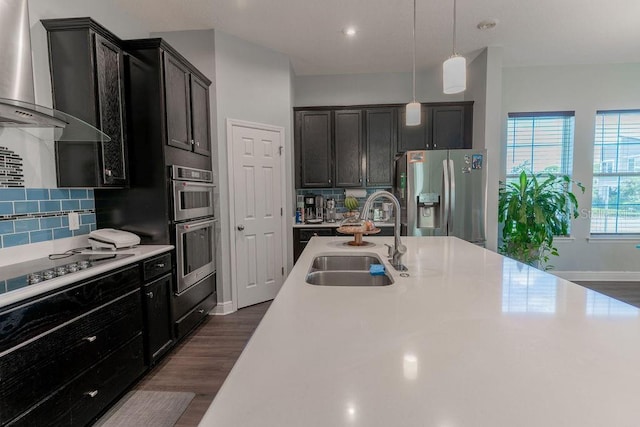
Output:
<instances>
[{"instance_id":1,"label":"stainless steel double wall oven built into the dark cabinet","mask_svg":"<svg viewBox=\"0 0 640 427\"><path fill-rule=\"evenodd\" d=\"M214 181L211 171L171 166L178 295L216 271Z\"/></svg>"}]
</instances>

